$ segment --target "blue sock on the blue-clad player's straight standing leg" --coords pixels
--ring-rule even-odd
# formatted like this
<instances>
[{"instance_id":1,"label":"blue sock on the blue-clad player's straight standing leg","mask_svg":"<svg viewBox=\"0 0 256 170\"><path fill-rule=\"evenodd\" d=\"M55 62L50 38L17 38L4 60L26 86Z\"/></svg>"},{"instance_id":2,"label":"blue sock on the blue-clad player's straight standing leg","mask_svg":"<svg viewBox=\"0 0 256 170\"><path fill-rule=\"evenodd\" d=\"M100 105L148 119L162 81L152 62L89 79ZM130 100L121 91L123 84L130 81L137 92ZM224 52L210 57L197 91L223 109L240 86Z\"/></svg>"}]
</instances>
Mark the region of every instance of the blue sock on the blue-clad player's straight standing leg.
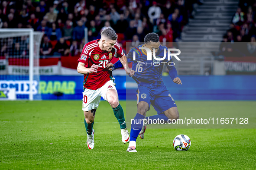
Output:
<instances>
[{"instance_id":1,"label":"blue sock on the blue-clad player's straight standing leg","mask_svg":"<svg viewBox=\"0 0 256 170\"><path fill-rule=\"evenodd\" d=\"M131 126L130 141L136 141L136 139L139 135L139 132L142 129L144 118L145 118L145 116L143 116L139 113L137 113L136 116L134 117L133 121L131 122L132 126Z\"/></svg>"}]
</instances>

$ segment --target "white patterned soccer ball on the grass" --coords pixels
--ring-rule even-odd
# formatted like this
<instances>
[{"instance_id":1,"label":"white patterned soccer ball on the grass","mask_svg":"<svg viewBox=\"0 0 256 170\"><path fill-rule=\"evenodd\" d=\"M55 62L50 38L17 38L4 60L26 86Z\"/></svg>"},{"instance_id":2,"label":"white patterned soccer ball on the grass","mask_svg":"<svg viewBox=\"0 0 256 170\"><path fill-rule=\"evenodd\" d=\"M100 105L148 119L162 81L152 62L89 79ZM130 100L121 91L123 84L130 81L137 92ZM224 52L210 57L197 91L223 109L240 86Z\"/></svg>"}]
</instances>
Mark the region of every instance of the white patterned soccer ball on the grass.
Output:
<instances>
[{"instance_id":1,"label":"white patterned soccer ball on the grass","mask_svg":"<svg viewBox=\"0 0 256 170\"><path fill-rule=\"evenodd\" d=\"M187 135L178 135L173 140L173 147L176 151L188 151L191 141Z\"/></svg>"}]
</instances>

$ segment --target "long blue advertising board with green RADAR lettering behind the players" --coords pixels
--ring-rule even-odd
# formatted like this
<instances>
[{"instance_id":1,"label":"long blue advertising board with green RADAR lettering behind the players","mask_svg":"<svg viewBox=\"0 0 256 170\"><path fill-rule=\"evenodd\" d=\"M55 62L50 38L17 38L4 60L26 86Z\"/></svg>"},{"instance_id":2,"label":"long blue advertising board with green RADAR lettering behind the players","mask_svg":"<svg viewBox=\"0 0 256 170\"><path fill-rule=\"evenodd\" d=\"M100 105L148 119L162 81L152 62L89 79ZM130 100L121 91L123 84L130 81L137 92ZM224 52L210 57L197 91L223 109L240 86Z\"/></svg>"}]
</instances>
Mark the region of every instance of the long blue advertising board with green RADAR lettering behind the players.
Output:
<instances>
[{"instance_id":1,"label":"long blue advertising board with green RADAR lettering behind the players","mask_svg":"<svg viewBox=\"0 0 256 170\"><path fill-rule=\"evenodd\" d=\"M28 99L28 76L1 75L0 78L0 88L15 88L17 99ZM169 76L163 77L166 87L175 100L256 100L256 76L179 76L179 78L182 85L173 83ZM119 99L136 100L136 82L127 76L115 76L115 79ZM35 99L81 100L83 76L40 76L40 82L34 81L32 91ZM63 95L58 96L56 92L61 92Z\"/></svg>"}]
</instances>

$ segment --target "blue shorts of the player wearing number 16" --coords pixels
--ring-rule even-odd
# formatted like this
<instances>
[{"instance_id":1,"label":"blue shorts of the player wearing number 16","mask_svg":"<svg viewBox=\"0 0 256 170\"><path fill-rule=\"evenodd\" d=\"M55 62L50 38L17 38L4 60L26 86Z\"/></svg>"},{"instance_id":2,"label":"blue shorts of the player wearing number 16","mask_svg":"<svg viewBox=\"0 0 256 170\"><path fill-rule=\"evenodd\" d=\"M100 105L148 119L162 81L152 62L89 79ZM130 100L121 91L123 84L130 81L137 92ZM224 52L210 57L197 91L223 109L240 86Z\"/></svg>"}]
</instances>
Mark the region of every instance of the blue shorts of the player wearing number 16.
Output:
<instances>
[{"instance_id":1,"label":"blue shorts of the player wearing number 16","mask_svg":"<svg viewBox=\"0 0 256 170\"><path fill-rule=\"evenodd\" d=\"M163 113L169 108L177 107L165 85L155 86L139 84L137 93L137 104L139 104L140 101L145 101L149 104L149 108L152 104L157 114Z\"/></svg>"}]
</instances>

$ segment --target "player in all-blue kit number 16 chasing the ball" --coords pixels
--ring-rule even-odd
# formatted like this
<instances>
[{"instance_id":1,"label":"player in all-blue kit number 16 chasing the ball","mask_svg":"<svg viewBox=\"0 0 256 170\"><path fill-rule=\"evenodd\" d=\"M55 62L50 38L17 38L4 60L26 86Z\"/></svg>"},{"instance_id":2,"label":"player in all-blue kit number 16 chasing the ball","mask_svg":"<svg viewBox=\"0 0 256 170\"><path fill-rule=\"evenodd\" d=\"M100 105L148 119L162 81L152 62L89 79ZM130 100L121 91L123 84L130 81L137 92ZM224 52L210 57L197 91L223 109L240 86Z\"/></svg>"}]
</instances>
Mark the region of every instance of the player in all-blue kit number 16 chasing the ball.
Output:
<instances>
[{"instance_id":1,"label":"player in all-blue kit number 16 chasing the ball","mask_svg":"<svg viewBox=\"0 0 256 170\"><path fill-rule=\"evenodd\" d=\"M147 52L149 50L139 49L139 47L146 47L152 53L152 60L147 60ZM166 49L166 50L165 50ZM135 53L133 53L135 51ZM135 71L133 79L137 82L137 113L132 121L130 143L127 149L128 152L136 151L136 139L140 135L144 138L146 125L143 125L146 112L150 109L150 105L155 108L157 115L146 117L147 124L152 123L152 120L177 120L179 113L175 101L170 92L165 87L162 81L162 70L164 64L169 69L169 75L174 83L181 84L181 79L178 78L177 70L173 64L172 59L168 60L167 47L160 45L159 36L156 33L149 33L144 38L144 44L130 50L127 55L128 63L133 63L132 70ZM163 58L164 60L155 60L153 57L155 53L156 58ZM135 59L133 58L135 54ZM112 69L121 68L122 64L118 61Z\"/></svg>"}]
</instances>

